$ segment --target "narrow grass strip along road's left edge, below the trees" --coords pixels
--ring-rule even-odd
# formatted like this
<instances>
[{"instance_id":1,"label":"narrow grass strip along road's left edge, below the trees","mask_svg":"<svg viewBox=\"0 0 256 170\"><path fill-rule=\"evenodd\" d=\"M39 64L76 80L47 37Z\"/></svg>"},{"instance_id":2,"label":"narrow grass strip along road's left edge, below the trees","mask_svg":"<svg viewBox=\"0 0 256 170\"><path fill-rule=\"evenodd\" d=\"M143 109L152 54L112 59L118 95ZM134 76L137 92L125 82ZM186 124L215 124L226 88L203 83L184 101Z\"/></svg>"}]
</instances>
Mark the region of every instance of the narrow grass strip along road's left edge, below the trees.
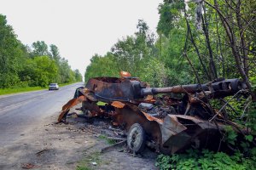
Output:
<instances>
[{"instance_id":1,"label":"narrow grass strip along road's left edge, below the trees","mask_svg":"<svg viewBox=\"0 0 256 170\"><path fill-rule=\"evenodd\" d=\"M59 84L59 87L67 86L69 84L73 84L74 82L67 82L63 84ZM36 90L48 89L48 87L26 87L26 88L0 88L0 95L3 94L17 94L21 92L31 92Z\"/></svg>"}]
</instances>

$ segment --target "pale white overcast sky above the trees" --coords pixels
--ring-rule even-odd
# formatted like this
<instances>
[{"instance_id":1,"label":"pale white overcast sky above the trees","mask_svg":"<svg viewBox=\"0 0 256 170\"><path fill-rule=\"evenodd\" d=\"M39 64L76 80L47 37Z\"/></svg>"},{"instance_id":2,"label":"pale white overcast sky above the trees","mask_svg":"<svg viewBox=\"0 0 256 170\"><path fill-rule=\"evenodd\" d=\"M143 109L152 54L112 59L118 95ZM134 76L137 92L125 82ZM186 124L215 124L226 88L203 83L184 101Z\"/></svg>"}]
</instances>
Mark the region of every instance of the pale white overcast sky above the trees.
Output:
<instances>
[{"instance_id":1,"label":"pale white overcast sky above the trees","mask_svg":"<svg viewBox=\"0 0 256 170\"><path fill-rule=\"evenodd\" d=\"M162 0L0 0L18 39L29 46L55 44L61 57L84 76L94 54L106 54L122 37L134 34L138 20L156 31Z\"/></svg>"}]
</instances>

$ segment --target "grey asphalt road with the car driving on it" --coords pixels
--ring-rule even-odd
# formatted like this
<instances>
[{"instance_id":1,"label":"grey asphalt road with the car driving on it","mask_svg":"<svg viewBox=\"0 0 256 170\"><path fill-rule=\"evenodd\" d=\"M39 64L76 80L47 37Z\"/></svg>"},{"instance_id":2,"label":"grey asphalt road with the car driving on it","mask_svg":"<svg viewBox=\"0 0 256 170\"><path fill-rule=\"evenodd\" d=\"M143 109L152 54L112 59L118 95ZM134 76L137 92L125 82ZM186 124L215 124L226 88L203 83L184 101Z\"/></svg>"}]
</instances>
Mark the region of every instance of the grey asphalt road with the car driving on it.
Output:
<instances>
[{"instance_id":1,"label":"grey asphalt road with the car driving on it","mask_svg":"<svg viewBox=\"0 0 256 170\"><path fill-rule=\"evenodd\" d=\"M84 82L55 91L40 90L0 96L0 147L14 143L32 124L37 125L44 117L60 112L61 106L72 99L75 89L81 86L84 86Z\"/></svg>"}]
</instances>

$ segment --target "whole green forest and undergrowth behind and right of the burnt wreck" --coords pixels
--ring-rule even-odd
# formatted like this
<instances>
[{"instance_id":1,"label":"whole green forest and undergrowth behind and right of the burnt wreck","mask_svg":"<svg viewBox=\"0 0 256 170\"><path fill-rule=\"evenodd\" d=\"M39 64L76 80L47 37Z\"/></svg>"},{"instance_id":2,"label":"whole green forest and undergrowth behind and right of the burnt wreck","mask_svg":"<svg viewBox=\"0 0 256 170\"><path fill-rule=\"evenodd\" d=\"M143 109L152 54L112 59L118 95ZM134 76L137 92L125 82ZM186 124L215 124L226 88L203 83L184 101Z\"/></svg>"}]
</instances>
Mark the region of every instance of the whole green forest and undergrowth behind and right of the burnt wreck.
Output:
<instances>
[{"instance_id":1,"label":"whole green forest and undergrowth behind and right of the burnt wreck","mask_svg":"<svg viewBox=\"0 0 256 170\"><path fill-rule=\"evenodd\" d=\"M160 169L256 167L255 8L253 0L164 0L158 7L157 35L146 21L138 20L133 35L119 39L108 53L91 57L85 82L90 77L119 77L119 71L129 71L151 87L205 83L219 78L240 78L246 83L249 98L226 98L209 104L220 109L222 102L230 99L232 105L226 108L230 119L251 130L243 142L236 140L233 130L225 133L224 139L234 146L236 154L188 150L185 155L161 155L157 163Z\"/></svg>"}]
</instances>

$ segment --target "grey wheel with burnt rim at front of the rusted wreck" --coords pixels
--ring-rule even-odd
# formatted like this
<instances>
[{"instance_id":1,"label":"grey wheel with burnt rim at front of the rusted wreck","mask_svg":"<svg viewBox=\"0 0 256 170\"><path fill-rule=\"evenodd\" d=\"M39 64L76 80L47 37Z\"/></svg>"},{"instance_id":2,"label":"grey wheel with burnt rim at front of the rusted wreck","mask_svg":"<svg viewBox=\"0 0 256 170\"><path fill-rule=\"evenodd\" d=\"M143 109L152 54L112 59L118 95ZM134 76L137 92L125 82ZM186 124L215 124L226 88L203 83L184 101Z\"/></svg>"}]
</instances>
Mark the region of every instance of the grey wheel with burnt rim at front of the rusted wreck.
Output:
<instances>
[{"instance_id":1,"label":"grey wheel with burnt rim at front of the rusted wreck","mask_svg":"<svg viewBox=\"0 0 256 170\"><path fill-rule=\"evenodd\" d=\"M127 135L128 148L135 153L140 153L144 150L145 143L146 134L143 127L139 123L134 123Z\"/></svg>"}]
</instances>

